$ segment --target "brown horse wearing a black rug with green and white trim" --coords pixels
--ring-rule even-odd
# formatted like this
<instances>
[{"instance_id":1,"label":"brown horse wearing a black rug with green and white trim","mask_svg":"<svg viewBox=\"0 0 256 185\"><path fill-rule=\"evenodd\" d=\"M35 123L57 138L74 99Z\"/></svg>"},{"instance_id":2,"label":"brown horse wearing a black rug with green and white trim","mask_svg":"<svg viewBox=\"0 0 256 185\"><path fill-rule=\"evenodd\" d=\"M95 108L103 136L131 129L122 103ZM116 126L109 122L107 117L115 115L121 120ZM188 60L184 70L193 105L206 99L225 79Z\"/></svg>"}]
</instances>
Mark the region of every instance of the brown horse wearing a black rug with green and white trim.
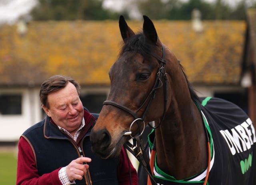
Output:
<instances>
[{"instance_id":1,"label":"brown horse wearing a black rug with green and white trim","mask_svg":"<svg viewBox=\"0 0 256 185\"><path fill-rule=\"evenodd\" d=\"M256 184L256 136L248 115L226 100L198 97L152 20L143 18L138 33L119 18L123 45L90 134L92 151L104 159L116 157L154 121L148 143L156 150L150 157L156 183ZM140 184L147 183L143 170L138 170Z\"/></svg>"}]
</instances>

